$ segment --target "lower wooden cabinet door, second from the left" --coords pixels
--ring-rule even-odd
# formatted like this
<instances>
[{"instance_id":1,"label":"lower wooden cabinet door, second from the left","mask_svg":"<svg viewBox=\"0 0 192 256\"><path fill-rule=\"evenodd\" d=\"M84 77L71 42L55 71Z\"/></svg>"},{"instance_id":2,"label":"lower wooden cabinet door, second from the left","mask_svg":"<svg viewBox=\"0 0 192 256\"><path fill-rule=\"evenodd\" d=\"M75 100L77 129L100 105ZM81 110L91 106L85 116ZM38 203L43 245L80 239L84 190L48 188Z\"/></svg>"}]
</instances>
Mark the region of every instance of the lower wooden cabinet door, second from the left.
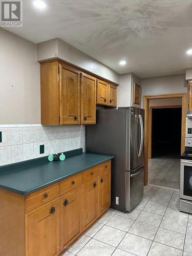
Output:
<instances>
[{"instance_id":1,"label":"lower wooden cabinet door, second from the left","mask_svg":"<svg viewBox=\"0 0 192 256\"><path fill-rule=\"evenodd\" d=\"M60 245L71 244L81 233L82 186L60 197ZM63 248L65 249L65 248Z\"/></svg>"}]
</instances>

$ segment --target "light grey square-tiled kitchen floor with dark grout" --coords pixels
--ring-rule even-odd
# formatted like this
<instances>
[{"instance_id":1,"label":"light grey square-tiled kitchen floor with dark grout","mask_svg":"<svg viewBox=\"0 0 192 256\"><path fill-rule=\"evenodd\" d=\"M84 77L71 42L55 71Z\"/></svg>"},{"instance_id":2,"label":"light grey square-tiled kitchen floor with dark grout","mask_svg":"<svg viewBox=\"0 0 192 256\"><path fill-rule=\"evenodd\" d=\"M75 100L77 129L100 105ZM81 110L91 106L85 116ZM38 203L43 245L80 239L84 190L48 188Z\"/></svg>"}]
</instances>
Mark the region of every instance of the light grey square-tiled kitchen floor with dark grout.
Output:
<instances>
[{"instance_id":1,"label":"light grey square-tiled kitchen floor with dark grout","mask_svg":"<svg viewBox=\"0 0 192 256\"><path fill-rule=\"evenodd\" d=\"M65 256L192 256L192 215L179 211L179 191L153 185L131 212L110 208Z\"/></svg>"}]
</instances>

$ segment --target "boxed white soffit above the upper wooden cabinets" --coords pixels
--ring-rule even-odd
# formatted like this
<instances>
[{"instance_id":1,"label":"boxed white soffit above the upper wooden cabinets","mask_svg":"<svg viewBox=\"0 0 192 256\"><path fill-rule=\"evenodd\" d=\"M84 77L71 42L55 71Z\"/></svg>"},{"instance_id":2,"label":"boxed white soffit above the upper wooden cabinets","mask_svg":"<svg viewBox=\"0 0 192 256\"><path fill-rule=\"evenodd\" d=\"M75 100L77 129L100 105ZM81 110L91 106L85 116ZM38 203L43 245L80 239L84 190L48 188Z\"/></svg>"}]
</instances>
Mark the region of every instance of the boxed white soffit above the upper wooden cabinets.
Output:
<instances>
[{"instance_id":1,"label":"boxed white soffit above the upper wooden cabinets","mask_svg":"<svg viewBox=\"0 0 192 256\"><path fill-rule=\"evenodd\" d=\"M58 57L98 76L119 83L119 74L67 42L55 38L37 44L37 60Z\"/></svg>"}]
</instances>

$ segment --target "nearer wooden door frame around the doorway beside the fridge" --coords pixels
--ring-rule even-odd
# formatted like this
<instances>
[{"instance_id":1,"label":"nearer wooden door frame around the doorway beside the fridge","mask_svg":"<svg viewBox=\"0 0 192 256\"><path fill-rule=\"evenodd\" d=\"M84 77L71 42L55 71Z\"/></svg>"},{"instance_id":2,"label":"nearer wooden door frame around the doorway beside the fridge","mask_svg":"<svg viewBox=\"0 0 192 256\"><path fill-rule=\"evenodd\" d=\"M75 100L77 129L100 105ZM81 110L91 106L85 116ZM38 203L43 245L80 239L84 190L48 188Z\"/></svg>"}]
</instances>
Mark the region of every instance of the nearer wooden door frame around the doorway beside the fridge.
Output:
<instances>
[{"instance_id":1,"label":"nearer wooden door frame around the doorway beside the fridge","mask_svg":"<svg viewBox=\"0 0 192 256\"><path fill-rule=\"evenodd\" d=\"M143 96L143 108L145 110L144 119L144 185L148 182L148 118L150 99L182 98L182 127L181 127L181 154L185 151L185 126L186 126L186 93L159 94ZM167 106L168 107L168 106Z\"/></svg>"}]
</instances>

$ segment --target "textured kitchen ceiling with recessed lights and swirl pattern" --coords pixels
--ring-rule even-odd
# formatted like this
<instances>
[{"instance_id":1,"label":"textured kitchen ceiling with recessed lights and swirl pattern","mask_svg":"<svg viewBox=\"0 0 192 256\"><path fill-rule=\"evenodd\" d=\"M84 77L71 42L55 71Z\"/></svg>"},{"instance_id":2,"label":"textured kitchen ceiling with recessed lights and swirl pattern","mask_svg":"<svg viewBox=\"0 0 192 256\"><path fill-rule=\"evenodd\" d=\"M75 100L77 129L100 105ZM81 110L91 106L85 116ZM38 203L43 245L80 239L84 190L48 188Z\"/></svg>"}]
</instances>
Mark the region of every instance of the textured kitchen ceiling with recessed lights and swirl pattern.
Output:
<instances>
[{"instance_id":1,"label":"textured kitchen ceiling with recessed lights and swirl pattern","mask_svg":"<svg viewBox=\"0 0 192 256\"><path fill-rule=\"evenodd\" d=\"M23 1L23 28L7 30L35 43L55 37L118 73L139 77L192 67L192 0ZM125 66L119 61L126 60Z\"/></svg>"}]
</instances>

